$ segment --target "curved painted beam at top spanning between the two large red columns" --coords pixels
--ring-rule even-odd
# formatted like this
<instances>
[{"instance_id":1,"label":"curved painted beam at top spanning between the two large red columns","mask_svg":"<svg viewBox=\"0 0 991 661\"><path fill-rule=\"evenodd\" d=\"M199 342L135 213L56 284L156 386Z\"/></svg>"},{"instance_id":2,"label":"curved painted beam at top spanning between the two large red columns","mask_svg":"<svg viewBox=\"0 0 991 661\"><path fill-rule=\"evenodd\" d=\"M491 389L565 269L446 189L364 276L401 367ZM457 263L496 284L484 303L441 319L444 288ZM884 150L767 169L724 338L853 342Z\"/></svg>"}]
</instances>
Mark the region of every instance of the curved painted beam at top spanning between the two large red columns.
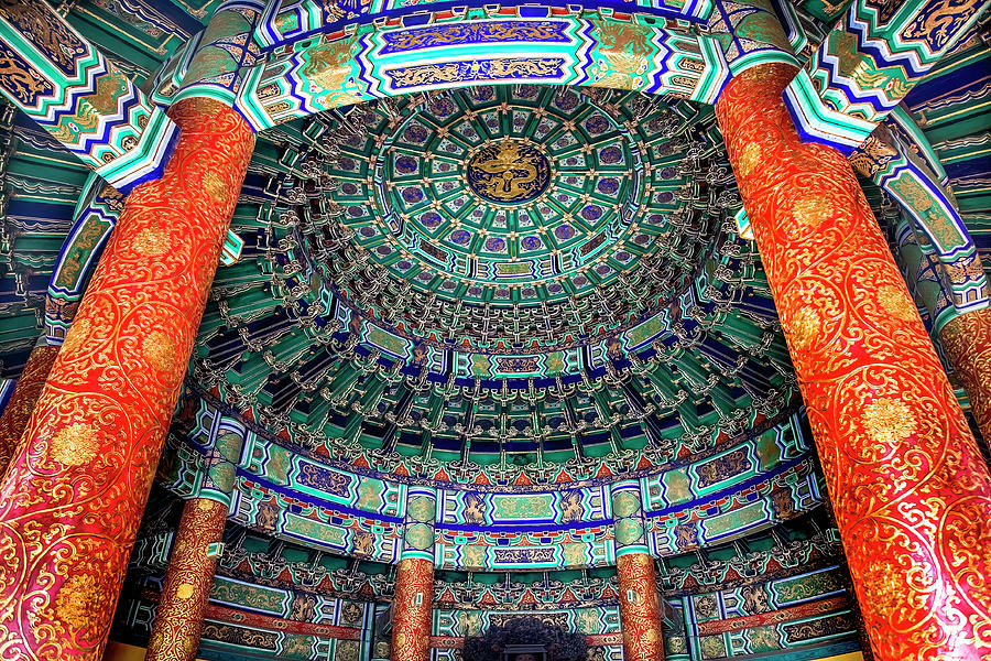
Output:
<instances>
[{"instance_id":1,"label":"curved painted beam at top spanning between the two large red columns","mask_svg":"<svg viewBox=\"0 0 991 661\"><path fill-rule=\"evenodd\" d=\"M711 102L729 77L714 37L522 10L443 12L296 41L244 69L237 106L257 130L383 97L500 83L587 85ZM429 64L420 64L426 63Z\"/></svg>"}]
</instances>

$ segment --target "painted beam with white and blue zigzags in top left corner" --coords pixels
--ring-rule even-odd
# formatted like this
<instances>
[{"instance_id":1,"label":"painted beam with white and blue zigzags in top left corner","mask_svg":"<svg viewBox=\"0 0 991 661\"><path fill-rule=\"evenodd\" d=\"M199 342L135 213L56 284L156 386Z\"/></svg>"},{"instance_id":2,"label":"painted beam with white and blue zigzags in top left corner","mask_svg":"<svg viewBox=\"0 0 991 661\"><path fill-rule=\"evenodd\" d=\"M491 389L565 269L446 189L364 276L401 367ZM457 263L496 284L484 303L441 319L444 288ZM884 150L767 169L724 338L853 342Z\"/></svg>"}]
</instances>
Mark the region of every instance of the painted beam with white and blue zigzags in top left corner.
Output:
<instances>
[{"instance_id":1,"label":"painted beam with white and blue zigzags in top left corner","mask_svg":"<svg viewBox=\"0 0 991 661\"><path fill-rule=\"evenodd\" d=\"M44 0L0 4L0 93L127 193L157 178L178 128Z\"/></svg>"}]
</instances>

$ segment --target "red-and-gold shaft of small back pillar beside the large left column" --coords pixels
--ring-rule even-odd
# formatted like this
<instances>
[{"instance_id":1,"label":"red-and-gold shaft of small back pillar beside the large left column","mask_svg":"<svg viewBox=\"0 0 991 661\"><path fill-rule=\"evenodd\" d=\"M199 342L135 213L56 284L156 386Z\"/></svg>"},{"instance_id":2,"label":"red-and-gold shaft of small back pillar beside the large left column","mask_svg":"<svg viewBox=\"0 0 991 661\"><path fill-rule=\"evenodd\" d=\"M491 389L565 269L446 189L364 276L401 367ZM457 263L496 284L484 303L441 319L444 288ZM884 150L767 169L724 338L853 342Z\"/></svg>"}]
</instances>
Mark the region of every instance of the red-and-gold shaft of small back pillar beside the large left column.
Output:
<instances>
[{"instance_id":1,"label":"red-and-gold shaft of small back pillar beside the large left column","mask_svg":"<svg viewBox=\"0 0 991 661\"><path fill-rule=\"evenodd\" d=\"M209 498L186 501L149 639L148 661L196 659L218 560L209 555L209 548L224 539L225 523L226 505Z\"/></svg>"}]
</instances>

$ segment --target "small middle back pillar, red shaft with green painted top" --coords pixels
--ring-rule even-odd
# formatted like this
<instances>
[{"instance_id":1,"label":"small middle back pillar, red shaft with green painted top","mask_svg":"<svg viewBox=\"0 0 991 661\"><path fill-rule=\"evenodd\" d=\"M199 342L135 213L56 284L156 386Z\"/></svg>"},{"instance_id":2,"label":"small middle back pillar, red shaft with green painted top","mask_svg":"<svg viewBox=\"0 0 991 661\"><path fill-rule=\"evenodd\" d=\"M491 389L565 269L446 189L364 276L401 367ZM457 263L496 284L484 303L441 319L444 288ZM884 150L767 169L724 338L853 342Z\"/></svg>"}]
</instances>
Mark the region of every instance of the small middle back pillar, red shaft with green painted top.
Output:
<instances>
[{"instance_id":1,"label":"small middle back pillar, red shaft with green painted top","mask_svg":"<svg viewBox=\"0 0 991 661\"><path fill-rule=\"evenodd\" d=\"M429 659L436 516L437 492L431 487L409 487L403 552L392 600L392 661Z\"/></svg>"}]
</instances>

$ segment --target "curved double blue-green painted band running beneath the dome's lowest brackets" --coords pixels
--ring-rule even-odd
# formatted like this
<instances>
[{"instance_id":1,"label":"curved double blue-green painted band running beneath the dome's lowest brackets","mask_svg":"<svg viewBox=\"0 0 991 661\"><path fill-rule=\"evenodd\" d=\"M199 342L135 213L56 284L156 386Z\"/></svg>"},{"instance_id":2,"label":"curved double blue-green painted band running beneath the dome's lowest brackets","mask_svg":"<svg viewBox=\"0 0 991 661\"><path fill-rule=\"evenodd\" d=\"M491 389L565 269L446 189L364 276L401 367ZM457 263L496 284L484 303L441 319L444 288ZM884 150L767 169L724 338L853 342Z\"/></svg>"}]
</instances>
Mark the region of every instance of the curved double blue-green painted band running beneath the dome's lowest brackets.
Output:
<instances>
[{"instance_id":1,"label":"curved double blue-green painted band running beneath the dome's lowest brackets","mask_svg":"<svg viewBox=\"0 0 991 661\"><path fill-rule=\"evenodd\" d=\"M197 456L209 460L217 453L210 438L226 437L231 422L211 408L184 405L176 423L189 430L181 432L189 438L182 465L198 474ZM639 480L484 491L362 476L249 432L231 512L268 534L390 564L422 557L455 571L609 566L618 552L671 556L814 509L821 496L807 453L786 426ZM204 495L184 470L167 479L170 488Z\"/></svg>"}]
</instances>

